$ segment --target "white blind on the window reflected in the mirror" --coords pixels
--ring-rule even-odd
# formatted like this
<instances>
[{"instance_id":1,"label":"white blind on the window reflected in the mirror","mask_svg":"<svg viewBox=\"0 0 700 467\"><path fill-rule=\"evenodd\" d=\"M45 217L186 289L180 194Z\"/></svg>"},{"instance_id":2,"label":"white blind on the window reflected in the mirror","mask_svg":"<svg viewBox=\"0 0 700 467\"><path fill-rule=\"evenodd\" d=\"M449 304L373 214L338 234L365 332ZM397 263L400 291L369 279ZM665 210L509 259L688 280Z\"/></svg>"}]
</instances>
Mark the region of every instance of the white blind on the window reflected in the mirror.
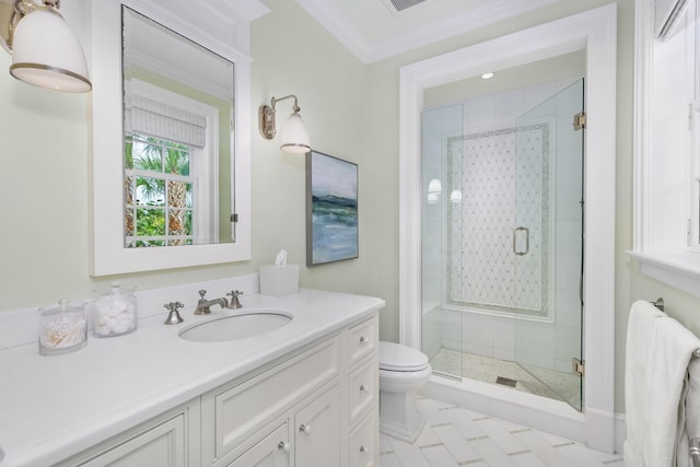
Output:
<instances>
[{"instance_id":1,"label":"white blind on the window reflected in the mirror","mask_svg":"<svg viewBox=\"0 0 700 467\"><path fill-rule=\"evenodd\" d=\"M125 130L203 148L207 118L140 95L125 100Z\"/></svg>"}]
</instances>

